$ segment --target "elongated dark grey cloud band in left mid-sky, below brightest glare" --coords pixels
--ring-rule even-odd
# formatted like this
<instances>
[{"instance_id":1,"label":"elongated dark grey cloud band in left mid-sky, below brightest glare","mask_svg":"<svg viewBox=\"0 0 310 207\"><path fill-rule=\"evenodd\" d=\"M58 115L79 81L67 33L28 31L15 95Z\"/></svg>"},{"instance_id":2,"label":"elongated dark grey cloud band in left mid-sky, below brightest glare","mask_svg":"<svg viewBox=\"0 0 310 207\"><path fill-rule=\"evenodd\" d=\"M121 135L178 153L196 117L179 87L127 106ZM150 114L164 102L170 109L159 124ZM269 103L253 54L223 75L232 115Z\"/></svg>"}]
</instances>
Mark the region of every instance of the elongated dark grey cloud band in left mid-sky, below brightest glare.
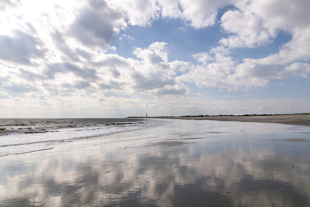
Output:
<instances>
[{"instance_id":1,"label":"elongated dark grey cloud band in left mid-sky, below brightest glare","mask_svg":"<svg viewBox=\"0 0 310 207\"><path fill-rule=\"evenodd\" d=\"M80 68L76 65L70 63L56 63L48 66L48 69L44 71L44 74L47 75L50 79L55 79L55 74L64 73L67 74L71 72L83 79L96 80L99 79L97 71L94 69Z\"/></svg>"}]
</instances>

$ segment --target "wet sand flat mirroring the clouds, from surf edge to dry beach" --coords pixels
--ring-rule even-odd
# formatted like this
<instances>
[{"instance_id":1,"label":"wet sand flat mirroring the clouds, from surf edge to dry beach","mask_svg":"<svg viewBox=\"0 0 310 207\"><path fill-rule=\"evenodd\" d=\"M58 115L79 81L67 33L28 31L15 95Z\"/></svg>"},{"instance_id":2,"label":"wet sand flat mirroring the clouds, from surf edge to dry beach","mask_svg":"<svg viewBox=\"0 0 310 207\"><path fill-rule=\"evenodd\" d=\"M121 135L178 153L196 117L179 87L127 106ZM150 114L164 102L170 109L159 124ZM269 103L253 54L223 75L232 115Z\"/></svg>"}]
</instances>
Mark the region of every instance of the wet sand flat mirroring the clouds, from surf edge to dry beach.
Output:
<instances>
[{"instance_id":1,"label":"wet sand flat mirroring the clouds, from surf edge to dry beach","mask_svg":"<svg viewBox=\"0 0 310 207\"><path fill-rule=\"evenodd\" d=\"M0 206L310 206L310 128L166 125L0 157Z\"/></svg>"}]
</instances>

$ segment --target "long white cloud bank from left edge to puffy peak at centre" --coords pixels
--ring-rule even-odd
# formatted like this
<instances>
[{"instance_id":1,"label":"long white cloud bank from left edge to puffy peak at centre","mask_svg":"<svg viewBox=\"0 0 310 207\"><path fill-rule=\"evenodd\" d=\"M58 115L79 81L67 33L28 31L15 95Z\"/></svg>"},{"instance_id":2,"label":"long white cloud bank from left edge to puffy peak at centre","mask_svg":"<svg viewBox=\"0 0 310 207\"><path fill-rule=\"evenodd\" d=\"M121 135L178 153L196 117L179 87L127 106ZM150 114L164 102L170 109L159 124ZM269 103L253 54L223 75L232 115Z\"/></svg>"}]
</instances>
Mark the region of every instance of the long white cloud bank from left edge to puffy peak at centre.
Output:
<instances>
[{"instance_id":1,"label":"long white cloud bank from left edge to puffy peak at centre","mask_svg":"<svg viewBox=\"0 0 310 207\"><path fill-rule=\"evenodd\" d=\"M47 96L68 96L84 89L120 94L142 93L150 96L187 94L189 88L176 84L174 76L179 71L188 70L189 63L168 61L167 43L153 43L148 48L136 48L133 52L141 61L123 58L115 54L100 53L95 60L65 62L37 66L27 69L8 68L3 71L15 73L16 78L8 78L3 88L14 93L40 92L40 99ZM39 68L40 69L40 68ZM101 95L102 96L102 95Z\"/></svg>"}]
</instances>

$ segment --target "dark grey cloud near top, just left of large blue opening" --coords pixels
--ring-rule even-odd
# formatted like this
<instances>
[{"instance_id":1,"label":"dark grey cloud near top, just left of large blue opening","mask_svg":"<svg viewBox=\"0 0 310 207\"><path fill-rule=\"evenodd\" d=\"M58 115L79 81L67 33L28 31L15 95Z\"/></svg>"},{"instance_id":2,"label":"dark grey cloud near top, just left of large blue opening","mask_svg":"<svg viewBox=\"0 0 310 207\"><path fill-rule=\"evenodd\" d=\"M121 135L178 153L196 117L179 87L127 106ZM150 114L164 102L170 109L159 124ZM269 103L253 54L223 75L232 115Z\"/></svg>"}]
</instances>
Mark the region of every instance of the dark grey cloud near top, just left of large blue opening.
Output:
<instances>
[{"instance_id":1,"label":"dark grey cloud near top, just left of large blue opening","mask_svg":"<svg viewBox=\"0 0 310 207\"><path fill-rule=\"evenodd\" d=\"M120 12L108 8L103 1L90 1L91 9L85 9L71 25L69 35L87 46L105 47L116 36L114 20L123 17Z\"/></svg>"}]
</instances>

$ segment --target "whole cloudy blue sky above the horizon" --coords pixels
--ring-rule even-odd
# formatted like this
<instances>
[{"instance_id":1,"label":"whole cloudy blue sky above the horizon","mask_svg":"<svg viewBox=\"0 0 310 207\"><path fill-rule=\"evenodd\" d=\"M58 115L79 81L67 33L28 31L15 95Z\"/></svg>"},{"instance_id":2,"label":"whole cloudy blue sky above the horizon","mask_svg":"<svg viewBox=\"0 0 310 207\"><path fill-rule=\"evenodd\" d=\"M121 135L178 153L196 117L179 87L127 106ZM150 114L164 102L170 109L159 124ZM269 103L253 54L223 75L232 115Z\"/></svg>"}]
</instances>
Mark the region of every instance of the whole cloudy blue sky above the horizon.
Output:
<instances>
[{"instance_id":1,"label":"whole cloudy blue sky above the horizon","mask_svg":"<svg viewBox=\"0 0 310 207\"><path fill-rule=\"evenodd\" d=\"M309 0L2 0L0 118L310 112Z\"/></svg>"}]
</instances>

